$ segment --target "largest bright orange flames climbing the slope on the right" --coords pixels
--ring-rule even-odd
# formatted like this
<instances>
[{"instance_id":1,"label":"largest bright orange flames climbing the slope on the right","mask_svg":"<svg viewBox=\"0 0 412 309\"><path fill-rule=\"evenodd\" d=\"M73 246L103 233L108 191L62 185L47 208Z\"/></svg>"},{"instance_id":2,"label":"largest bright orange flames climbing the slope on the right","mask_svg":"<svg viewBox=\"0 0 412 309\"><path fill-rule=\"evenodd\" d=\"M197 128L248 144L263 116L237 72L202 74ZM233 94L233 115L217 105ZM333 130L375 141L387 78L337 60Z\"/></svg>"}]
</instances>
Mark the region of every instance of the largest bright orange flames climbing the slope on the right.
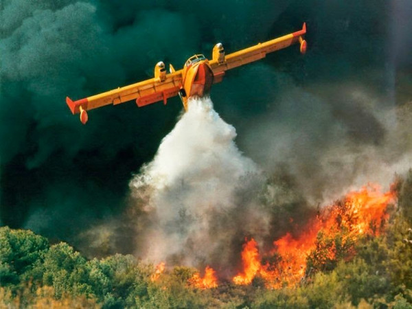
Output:
<instances>
[{"instance_id":1,"label":"largest bright orange flames climbing the slope on the right","mask_svg":"<svg viewBox=\"0 0 412 309\"><path fill-rule=\"evenodd\" d=\"M286 233L275 240L274 249L268 254L271 262L262 263L258 244L252 238L243 246L243 271L233 277L233 282L251 284L259 275L270 288L294 286L304 279L310 259L315 270L326 267L337 256L350 260L360 236L381 233L389 218L387 205L394 198L393 192L381 193L376 185L350 192L343 202L323 208L304 233L295 237Z\"/></svg>"}]
</instances>

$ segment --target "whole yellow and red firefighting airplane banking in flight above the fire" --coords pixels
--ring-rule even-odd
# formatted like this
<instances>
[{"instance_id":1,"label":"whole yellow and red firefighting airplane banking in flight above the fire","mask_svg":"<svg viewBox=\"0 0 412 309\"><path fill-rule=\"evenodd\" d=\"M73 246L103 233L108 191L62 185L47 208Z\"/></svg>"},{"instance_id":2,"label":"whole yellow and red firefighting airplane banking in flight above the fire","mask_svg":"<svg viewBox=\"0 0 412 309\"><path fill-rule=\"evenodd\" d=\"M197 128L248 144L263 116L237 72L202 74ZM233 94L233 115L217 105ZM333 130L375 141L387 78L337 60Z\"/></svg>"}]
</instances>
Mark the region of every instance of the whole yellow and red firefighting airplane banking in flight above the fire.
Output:
<instances>
[{"instance_id":1,"label":"whole yellow and red firefighting airplane banking in flight above the fire","mask_svg":"<svg viewBox=\"0 0 412 309\"><path fill-rule=\"evenodd\" d=\"M183 102L183 107L187 111L187 100L194 96L203 97L208 95L211 84L221 82L223 76L225 76L225 71L229 69L260 60L268 53L289 47L295 43L300 43L300 52L305 54L307 48L306 41L304 40L305 34L306 23L297 32L259 43L226 56L223 45L218 43L213 48L211 60L207 60L201 54L194 55L186 61L183 69L179 71L176 71L170 65L170 73L166 73L165 64L160 61L155 65L155 78L77 101L67 97L66 102L73 115L80 113L80 122L82 124L86 124L89 119L87 111L108 104L116 105L130 100L136 100L137 106L141 107L162 100L166 104L168 98L179 95Z\"/></svg>"}]
</instances>

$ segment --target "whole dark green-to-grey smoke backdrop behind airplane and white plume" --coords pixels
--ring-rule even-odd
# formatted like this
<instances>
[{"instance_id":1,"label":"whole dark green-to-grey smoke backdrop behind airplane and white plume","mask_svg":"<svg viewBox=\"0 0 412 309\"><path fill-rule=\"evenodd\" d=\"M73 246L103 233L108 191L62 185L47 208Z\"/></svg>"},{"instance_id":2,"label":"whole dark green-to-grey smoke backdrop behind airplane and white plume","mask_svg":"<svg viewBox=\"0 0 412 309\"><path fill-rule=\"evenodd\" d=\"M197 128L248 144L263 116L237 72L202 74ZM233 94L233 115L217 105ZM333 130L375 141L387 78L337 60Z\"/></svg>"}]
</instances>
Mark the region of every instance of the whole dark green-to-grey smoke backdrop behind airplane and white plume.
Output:
<instances>
[{"instance_id":1,"label":"whole dark green-to-grey smoke backdrop behind airplane and white plume","mask_svg":"<svg viewBox=\"0 0 412 309\"><path fill-rule=\"evenodd\" d=\"M292 228L284 218L304 220L308 206L365 181L387 183L409 167L412 145L404 17L411 7L393 3L3 1L0 223L69 241L89 255L133 252L130 243L143 248L139 229L146 225L136 222L152 218L128 206L136 203L128 183L176 124L181 103L108 106L82 126L65 96L149 78L159 60L181 67L194 53L209 56L218 41L232 52L303 21L306 56L296 47L268 55L228 72L211 92L240 150L265 174L266 191L262 183L240 190L236 205L260 205L244 193L260 192L271 214L260 235L270 244Z\"/></svg>"}]
</instances>

